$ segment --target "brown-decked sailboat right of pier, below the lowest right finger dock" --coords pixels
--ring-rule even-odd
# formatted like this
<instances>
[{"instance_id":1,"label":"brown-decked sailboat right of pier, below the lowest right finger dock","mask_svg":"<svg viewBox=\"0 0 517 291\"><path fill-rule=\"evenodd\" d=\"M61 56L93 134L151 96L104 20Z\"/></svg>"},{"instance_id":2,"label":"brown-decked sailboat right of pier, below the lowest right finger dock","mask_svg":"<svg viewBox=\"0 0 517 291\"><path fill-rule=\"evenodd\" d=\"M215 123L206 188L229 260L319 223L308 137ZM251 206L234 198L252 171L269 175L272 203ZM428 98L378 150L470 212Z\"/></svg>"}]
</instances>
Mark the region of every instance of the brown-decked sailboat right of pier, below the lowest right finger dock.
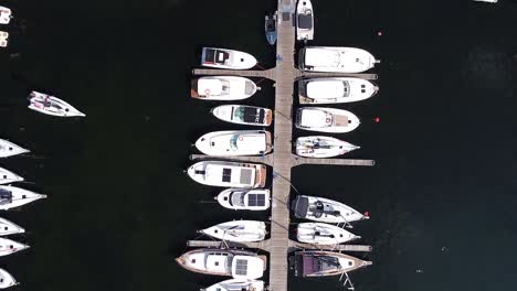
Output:
<instances>
[{"instance_id":1,"label":"brown-decked sailboat right of pier, below the lowest right finger dock","mask_svg":"<svg viewBox=\"0 0 517 291\"><path fill-rule=\"evenodd\" d=\"M341 252L323 250L296 251L289 262L296 277L340 276L371 265Z\"/></svg>"}]
</instances>

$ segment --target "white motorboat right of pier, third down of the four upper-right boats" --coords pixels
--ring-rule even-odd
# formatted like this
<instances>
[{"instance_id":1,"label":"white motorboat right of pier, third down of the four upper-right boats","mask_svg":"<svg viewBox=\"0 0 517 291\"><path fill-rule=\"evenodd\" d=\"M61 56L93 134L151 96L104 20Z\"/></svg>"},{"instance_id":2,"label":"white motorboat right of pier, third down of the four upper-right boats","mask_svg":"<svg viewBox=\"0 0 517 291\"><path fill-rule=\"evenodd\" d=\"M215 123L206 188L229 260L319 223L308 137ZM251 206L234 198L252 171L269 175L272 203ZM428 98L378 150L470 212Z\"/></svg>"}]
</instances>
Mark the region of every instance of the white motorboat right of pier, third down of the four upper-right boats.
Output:
<instances>
[{"instance_id":1,"label":"white motorboat right of pier, third down of the four upper-right boats","mask_svg":"<svg viewBox=\"0 0 517 291\"><path fill-rule=\"evenodd\" d=\"M296 111L295 126L299 129L344 133L359 126L359 118L350 111L326 107L302 107Z\"/></svg>"}]
</instances>

